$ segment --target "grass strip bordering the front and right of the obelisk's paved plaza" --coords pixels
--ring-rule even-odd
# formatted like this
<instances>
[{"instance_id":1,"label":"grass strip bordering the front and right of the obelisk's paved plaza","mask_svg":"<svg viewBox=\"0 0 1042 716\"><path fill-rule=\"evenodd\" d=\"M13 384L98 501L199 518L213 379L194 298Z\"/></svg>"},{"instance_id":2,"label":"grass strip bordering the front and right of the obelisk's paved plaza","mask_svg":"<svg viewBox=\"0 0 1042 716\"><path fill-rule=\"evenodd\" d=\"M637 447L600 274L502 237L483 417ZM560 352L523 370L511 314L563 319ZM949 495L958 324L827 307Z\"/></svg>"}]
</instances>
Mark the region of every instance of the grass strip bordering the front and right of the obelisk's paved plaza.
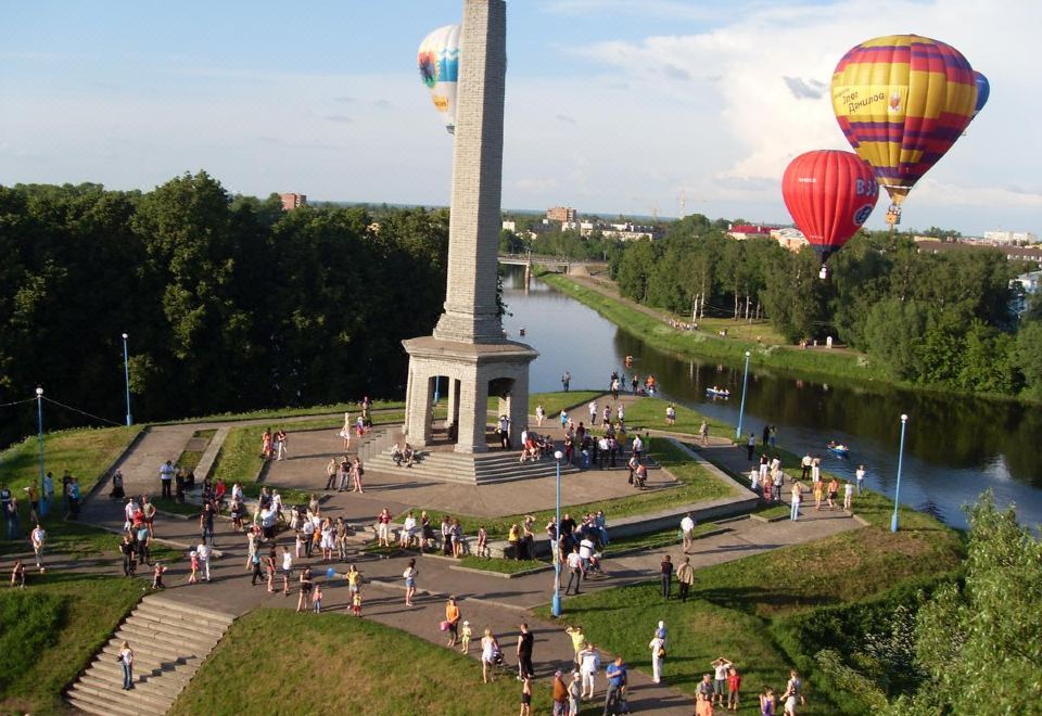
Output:
<instances>
[{"instance_id":1,"label":"grass strip bordering the front and right of the obelisk's paved plaza","mask_svg":"<svg viewBox=\"0 0 1042 716\"><path fill-rule=\"evenodd\" d=\"M605 511L608 519L608 534L611 534L611 521L619 517L627 517L634 514L644 514L675 508L679 504L694 504L704 500L713 500L726 497L733 494L730 487L709 474L702 465L691 460L684 450L676 447L666 439L655 439L651 446L655 460L666 468L676 477L678 485L668 489L651 490L647 493L634 491L627 497L617 497L614 499L599 500L597 502L584 502L582 504L562 504L564 510L572 514L585 514L587 512ZM621 469L620 469L621 470ZM424 508L412 508L412 512L419 515ZM441 523L441 510L428 510L431 523L437 525ZM554 510L541 510L534 513L535 528L542 530L548 521L554 519ZM397 515L403 517L404 513ZM468 535L474 535L478 527L484 526L488 532L490 539L505 539L510 532L510 525L520 524L524 521L524 514L511 514L503 517L473 517L463 514L453 514L458 517Z\"/></svg>"}]
</instances>

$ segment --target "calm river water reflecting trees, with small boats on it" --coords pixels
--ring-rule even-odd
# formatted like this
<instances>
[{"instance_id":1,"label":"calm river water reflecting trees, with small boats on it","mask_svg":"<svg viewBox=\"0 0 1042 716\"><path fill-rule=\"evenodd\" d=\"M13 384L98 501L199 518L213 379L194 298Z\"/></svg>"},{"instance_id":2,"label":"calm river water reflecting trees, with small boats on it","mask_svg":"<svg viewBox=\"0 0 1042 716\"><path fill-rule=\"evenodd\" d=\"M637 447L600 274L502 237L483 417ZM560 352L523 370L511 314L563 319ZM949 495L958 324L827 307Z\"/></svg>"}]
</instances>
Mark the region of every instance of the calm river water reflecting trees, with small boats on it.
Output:
<instances>
[{"instance_id":1,"label":"calm river water reflecting trees, with small boats on it","mask_svg":"<svg viewBox=\"0 0 1042 716\"><path fill-rule=\"evenodd\" d=\"M532 363L532 391L559 391L561 373L572 387L607 388L613 370L652 373L664 397L737 425L741 368L691 361L656 350L615 328L596 311L533 281L523 291L523 270L504 279L512 316L504 319L511 337L524 328L539 351ZM630 371L625 371L628 375ZM706 388L726 386L729 400L710 400ZM1042 522L1042 418L1038 409L993 400L939 396L887 386L824 384L750 370L744 432L758 435L765 423L793 452L822 455L827 469L853 476L859 463L871 487L893 495L901 413L908 414L901 501L965 526L962 506L991 488L999 504L1013 502L1022 523ZM828 440L851 447L847 460L831 456Z\"/></svg>"}]
</instances>

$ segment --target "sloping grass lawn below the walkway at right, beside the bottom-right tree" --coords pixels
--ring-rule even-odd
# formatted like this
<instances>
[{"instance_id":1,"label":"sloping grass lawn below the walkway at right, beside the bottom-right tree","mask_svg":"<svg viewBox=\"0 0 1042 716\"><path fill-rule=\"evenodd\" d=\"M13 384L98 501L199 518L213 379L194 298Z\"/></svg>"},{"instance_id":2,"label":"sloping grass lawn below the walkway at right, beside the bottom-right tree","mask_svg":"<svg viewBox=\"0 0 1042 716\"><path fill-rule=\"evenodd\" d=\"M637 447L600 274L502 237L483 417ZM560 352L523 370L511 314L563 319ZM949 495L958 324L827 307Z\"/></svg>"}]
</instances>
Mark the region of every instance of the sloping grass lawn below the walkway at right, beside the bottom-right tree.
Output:
<instances>
[{"instance_id":1,"label":"sloping grass lawn below the walkway at right, beside the bottom-right tree","mask_svg":"<svg viewBox=\"0 0 1042 716\"><path fill-rule=\"evenodd\" d=\"M895 585L950 574L961 564L964 550L957 532L904 510L901 530L892 534L887 506L879 495L863 496L859 513L872 526L698 570L686 604L664 602L657 581L644 583L572 599L567 619L582 624L598 647L625 654L645 670L650 670L651 631L658 619L665 619L669 682L692 691L709 663L723 655L744 672L740 713L759 714L755 693L765 685L784 688L793 661L806 656L787 654L778 645L774 623L872 599ZM831 694L809 689L808 707L800 714L837 713Z\"/></svg>"}]
</instances>

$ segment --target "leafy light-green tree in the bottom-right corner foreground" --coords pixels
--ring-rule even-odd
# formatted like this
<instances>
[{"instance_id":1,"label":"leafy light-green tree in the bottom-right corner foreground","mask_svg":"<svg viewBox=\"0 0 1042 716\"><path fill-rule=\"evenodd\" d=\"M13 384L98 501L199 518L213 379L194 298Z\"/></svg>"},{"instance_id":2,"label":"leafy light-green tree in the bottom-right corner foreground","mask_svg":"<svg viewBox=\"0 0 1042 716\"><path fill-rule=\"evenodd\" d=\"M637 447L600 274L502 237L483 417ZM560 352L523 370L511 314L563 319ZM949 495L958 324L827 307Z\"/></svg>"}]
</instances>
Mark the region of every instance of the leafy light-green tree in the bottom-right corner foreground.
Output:
<instances>
[{"instance_id":1,"label":"leafy light-green tree in the bottom-right corner foreground","mask_svg":"<svg viewBox=\"0 0 1042 716\"><path fill-rule=\"evenodd\" d=\"M933 592L916 618L929 680L898 714L1033 714L1042 700L1042 546L986 493L969 510L962 584Z\"/></svg>"}]
</instances>

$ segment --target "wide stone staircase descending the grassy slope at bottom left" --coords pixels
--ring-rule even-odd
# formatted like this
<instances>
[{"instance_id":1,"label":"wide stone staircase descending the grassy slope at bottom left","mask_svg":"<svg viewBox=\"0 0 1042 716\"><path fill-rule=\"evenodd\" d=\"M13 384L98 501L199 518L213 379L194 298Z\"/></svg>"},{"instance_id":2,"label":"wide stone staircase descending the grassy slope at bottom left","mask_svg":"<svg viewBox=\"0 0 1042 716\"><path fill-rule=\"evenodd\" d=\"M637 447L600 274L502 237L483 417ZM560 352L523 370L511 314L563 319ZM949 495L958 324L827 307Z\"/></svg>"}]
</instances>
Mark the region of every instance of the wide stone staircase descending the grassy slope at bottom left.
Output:
<instances>
[{"instance_id":1,"label":"wide stone staircase descending the grassy slope at bottom left","mask_svg":"<svg viewBox=\"0 0 1042 716\"><path fill-rule=\"evenodd\" d=\"M223 614L161 596L141 600L66 692L87 714L164 714L234 621ZM134 689L123 690L116 661L124 641L134 650Z\"/></svg>"}]
</instances>

